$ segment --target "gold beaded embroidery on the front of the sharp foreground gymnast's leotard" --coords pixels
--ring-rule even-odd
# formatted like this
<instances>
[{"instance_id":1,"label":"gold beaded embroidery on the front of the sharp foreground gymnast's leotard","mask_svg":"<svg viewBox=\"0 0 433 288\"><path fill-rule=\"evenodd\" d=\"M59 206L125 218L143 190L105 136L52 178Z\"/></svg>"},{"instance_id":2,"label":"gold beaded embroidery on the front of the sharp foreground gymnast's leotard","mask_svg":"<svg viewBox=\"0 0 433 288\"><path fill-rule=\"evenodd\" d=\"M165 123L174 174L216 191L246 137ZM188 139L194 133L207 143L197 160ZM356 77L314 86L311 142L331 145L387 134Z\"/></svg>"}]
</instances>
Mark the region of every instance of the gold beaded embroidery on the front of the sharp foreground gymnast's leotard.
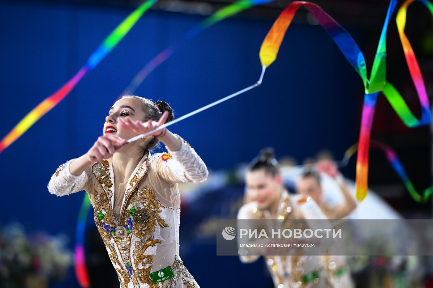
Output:
<instances>
[{"instance_id":1,"label":"gold beaded embroidery on the front of the sharp foreground gymnast's leotard","mask_svg":"<svg viewBox=\"0 0 433 288\"><path fill-rule=\"evenodd\" d=\"M143 169L145 166L145 169ZM119 275L122 275L122 283L126 283L126 276L132 277L132 282L149 284L150 287L157 287L152 283L149 273L152 271L153 255L147 255L145 250L150 246L161 243L161 240L154 239L156 227L168 227L168 224L159 215L162 213L161 206L155 197L155 192L145 186L139 190L138 184L147 171L147 162L137 170L136 175L129 182L129 189L125 193L125 202L122 205L120 222L113 221L111 198L113 193L110 188L113 183L110 180L110 163L107 160L95 163L92 167L94 175L103 188L103 192L95 197L95 223L106 246L111 246L110 239L117 244L120 256L114 254L112 249L111 260L122 270L116 268ZM120 185L121 186L121 185ZM129 209L126 209L128 207ZM108 214L108 215L106 215ZM106 217L108 216L108 217ZM131 243L132 235L139 238L139 241ZM130 251L134 244L132 253L134 266L132 266ZM110 247L111 248L111 247ZM120 262L121 260L121 262ZM138 284L138 283L137 283Z\"/></svg>"}]
</instances>

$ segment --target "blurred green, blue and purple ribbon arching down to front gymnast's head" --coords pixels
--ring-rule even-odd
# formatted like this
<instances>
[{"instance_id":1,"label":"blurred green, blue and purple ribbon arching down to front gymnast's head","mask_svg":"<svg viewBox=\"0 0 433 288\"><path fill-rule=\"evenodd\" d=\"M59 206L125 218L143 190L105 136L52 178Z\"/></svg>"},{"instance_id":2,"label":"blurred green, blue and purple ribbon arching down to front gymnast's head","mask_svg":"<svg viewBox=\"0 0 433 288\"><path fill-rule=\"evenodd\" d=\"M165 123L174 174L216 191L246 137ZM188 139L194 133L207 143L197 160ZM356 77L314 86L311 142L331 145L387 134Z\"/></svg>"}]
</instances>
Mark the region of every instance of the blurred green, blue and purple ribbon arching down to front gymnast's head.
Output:
<instances>
[{"instance_id":1,"label":"blurred green, blue and purple ribbon arching down to front gymnast's head","mask_svg":"<svg viewBox=\"0 0 433 288\"><path fill-rule=\"evenodd\" d=\"M262 5L272 1L274 0L240 0L216 11L211 16L207 17L202 22L192 27L183 35L182 38L172 43L170 46L168 46L158 55L156 55L155 58L149 61L149 63L147 63L132 79L126 89L123 90L122 94L120 94L118 99L120 99L121 96L123 96L124 94L133 94L138 88L138 86L140 86L140 84L145 80L145 78L149 76L149 74L152 73L152 71L155 70L156 67L158 67L160 64L162 64L162 62L167 60L167 58L170 57L176 50L178 50L185 42L194 38L198 33L209 28L213 24L216 24L217 22L220 22L221 20L233 16L234 14L237 14L243 10L247 10L251 7Z\"/></svg>"}]
</instances>

